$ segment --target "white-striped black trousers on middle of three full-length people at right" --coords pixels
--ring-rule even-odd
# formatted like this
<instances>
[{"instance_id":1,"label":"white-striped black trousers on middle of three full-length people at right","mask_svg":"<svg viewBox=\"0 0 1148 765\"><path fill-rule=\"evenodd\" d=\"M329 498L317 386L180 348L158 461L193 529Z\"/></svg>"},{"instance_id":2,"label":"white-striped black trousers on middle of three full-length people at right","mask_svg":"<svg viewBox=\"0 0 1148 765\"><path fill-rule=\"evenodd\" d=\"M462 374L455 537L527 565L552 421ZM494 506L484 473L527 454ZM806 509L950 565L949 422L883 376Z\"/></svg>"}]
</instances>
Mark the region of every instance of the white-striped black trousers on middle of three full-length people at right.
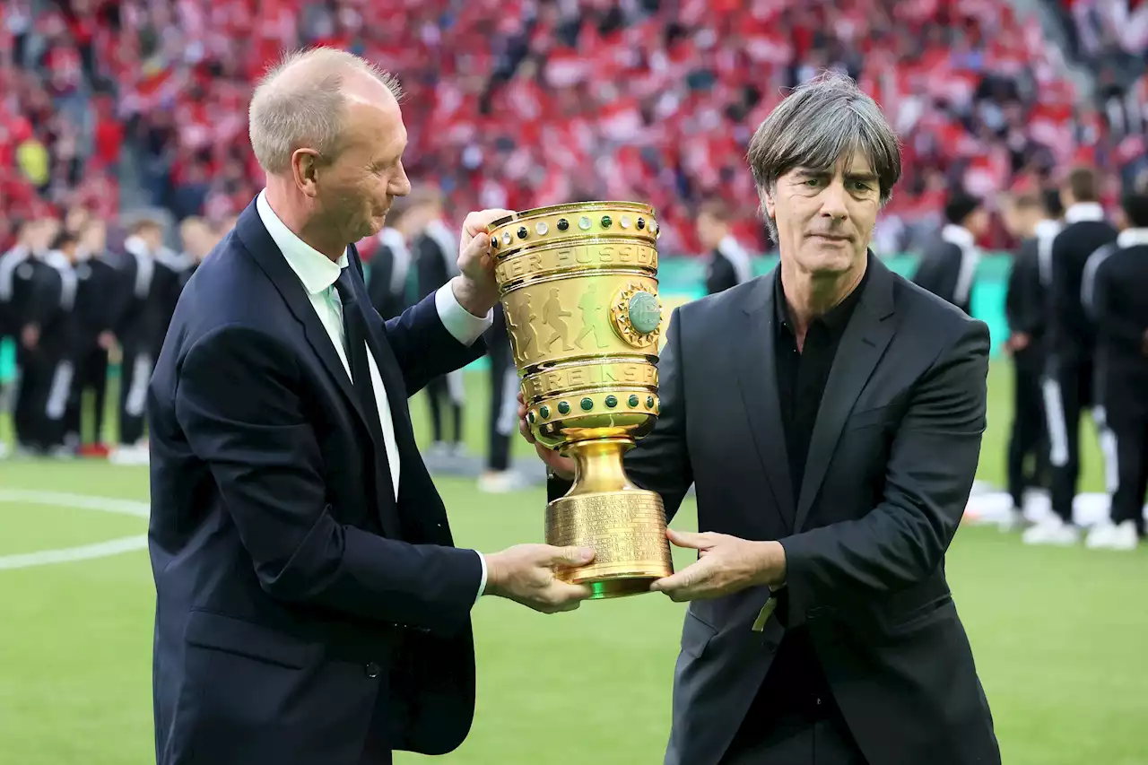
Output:
<instances>
[{"instance_id":1,"label":"white-striped black trousers on middle of three full-length people at right","mask_svg":"<svg viewBox=\"0 0 1148 765\"><path fill-rule=\"evenodd\" d=\"M1048 420L1048 462L1053 511L1072 523L1072 500L1080 478L1080 416L1092 404L1092 360L1053 360L1042 387Z\"/></svg>"}]
</instances>

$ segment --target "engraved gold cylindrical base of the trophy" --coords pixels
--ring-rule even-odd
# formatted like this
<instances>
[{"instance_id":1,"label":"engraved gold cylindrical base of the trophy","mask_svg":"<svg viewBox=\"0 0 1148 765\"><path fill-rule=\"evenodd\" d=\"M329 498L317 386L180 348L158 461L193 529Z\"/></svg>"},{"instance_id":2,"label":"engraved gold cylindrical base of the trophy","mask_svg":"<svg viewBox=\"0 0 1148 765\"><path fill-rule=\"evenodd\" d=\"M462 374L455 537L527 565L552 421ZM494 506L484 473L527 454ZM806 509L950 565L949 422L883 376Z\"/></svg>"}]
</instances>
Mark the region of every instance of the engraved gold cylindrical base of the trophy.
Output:
<instances>
[{"instance_id":1,"label":"engraved gold cylindrical base of the trophy","mask_svg":"<svg viewBox=\"0 0 1148 765\"><path fill-rule=\"evenodd\" d=\"M661 496L642 489L572 494L546 505L546 543L590 547L594 562L558 572L563 581L588 585L590 600L650 592L674 573Z\"/></svg>"}]
</instances>

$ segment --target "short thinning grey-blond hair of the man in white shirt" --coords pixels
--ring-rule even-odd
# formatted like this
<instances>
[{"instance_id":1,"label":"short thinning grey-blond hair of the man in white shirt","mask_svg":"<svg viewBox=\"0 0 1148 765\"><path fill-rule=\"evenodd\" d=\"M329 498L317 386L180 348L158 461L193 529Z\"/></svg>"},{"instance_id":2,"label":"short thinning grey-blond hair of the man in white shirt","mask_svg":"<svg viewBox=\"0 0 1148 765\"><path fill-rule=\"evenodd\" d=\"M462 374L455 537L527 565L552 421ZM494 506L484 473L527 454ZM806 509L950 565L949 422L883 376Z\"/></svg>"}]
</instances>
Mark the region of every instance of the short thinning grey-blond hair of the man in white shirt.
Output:
<instances>
[{"instance_id":1,"label":"short thinning grey-blond hair of the man in white shirt","mask_svg":"<svg viewBox=\"0 0 1148 765\"><path fill-rule=\"evenodd\" d=\"M265 172L287 172L298 148L313 148L325 161L339 154L347 105L343 83L356 74L379 80L402 99L393 75L335 48L296 51L267 70L248 108L251 149Z\"/></svg>"}]
</instances>

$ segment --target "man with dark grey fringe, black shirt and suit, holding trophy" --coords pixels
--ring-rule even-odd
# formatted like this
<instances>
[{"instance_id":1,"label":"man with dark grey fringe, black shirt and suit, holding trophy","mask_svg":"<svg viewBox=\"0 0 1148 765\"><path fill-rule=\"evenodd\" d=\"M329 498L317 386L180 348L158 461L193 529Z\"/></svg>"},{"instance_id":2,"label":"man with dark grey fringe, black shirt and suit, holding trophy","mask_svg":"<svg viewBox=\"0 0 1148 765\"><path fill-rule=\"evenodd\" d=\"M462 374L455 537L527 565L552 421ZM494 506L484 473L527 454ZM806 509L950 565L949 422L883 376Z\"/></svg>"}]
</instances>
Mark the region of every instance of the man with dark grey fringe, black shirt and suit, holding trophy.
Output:
<instances>
[{"instance_id":1,"label":"man with dark grey fringe, black shirt and suit, holding trophy","mask_svg":"<svg viewBox=\"0 0 1148 765\"><path fill-rule=\"evenodd\" d=\"M988 329L869 252L901 160L852 80L798 87L748 161L781 264L675 309L626 455L670 517L697 492L669 539L698 561L652 585L690 602L666 765L1000 763L944 565ZM558 496L572 465L538 450Z\"/></svg>"}]
</instances>

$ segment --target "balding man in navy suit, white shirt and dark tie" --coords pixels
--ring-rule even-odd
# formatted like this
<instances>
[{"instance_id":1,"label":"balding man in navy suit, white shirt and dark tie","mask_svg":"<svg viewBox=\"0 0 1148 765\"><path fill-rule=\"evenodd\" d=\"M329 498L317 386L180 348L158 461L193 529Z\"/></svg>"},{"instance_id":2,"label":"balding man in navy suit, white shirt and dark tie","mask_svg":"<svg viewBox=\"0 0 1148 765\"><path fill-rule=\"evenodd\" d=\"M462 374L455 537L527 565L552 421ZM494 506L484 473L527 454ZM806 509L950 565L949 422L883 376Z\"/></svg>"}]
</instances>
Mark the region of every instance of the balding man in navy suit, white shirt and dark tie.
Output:
<instances>
[{"instance_id":1,"label":"balding man in navy suit, white shirt and dark tie","mask_svg":"<svg viewBox=\"0 0 1148 765\"><path fill-rule=\"evenodd\" d=\"M498 298L488 224L459 275L373 309L352 242L410 191L394 79L318 48L258 85L266 187L180 295L148 393L160 765L385 765L474 714L471 609L589 588L592 550L457 549L406 399L474 361Z\"/></svg>"}]
</instances>

